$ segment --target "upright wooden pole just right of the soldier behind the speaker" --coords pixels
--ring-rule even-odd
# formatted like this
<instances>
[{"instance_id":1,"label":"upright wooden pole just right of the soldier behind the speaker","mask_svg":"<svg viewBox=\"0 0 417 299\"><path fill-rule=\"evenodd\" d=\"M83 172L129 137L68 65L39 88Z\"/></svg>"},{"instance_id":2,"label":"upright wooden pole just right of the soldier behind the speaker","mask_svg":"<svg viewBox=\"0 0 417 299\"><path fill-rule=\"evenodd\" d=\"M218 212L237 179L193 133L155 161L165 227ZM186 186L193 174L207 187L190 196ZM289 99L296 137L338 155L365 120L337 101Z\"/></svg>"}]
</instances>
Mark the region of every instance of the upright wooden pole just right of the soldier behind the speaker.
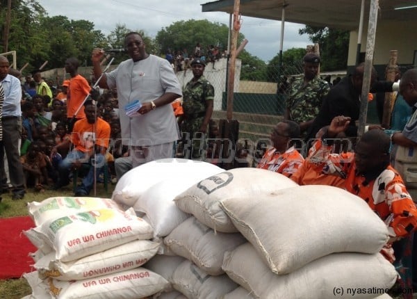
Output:
<instances>
[{"instance_id":1,"label":"upright wooden pole just right of the soldier behind the speaker","mask_svg":"<svg viewBox=\"0 0 417 299\"><path fill-rule=\"evenodd\" d=\"M227 120L231 120L233 112L234 76L236 67L236 44L240 29L239 19L240 0L234 1L233 29L231 31L229 78L227 81Z\"/></svg>"}]
</instances>

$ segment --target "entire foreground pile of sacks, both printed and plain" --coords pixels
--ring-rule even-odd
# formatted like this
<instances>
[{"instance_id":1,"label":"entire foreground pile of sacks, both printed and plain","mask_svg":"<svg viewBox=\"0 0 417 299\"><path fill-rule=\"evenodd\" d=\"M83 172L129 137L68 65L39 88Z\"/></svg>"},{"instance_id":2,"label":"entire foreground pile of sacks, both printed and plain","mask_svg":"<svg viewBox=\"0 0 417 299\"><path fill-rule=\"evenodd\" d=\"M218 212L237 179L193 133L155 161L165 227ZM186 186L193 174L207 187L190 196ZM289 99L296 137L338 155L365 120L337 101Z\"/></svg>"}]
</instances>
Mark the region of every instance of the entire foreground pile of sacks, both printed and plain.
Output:
<instances>
[{"instance_id":1,"label":"entire foreground pile of sacks, both printed and plain","mask_svg":"<svg viewBox=\"0 0 417 299\"><path fill-rule=\"evenodd\" d=\"M397 278L378 253L388 239L386 226L363 200L338 188L298 186L256 168L224 171L199 161L162 159L127 172L112 199L105 200L106 209L84 204L81 209L92 212L74 221L79 225L66 232L68 239L57 238L65 220L42 220L26 232L40 248L37 271L26 275L34 298L377 298L371 289L390 289ZM97 233L86 227L108 218L96 213L101 210L122 213L117 228L127 227L124 221L138 226L125 245L147 245L133 245L129 254L138 254L129 259L133 265L120 261L121 243L90 251L97 238L88 236ZM81 237L74 236L77 231ZM102 263L96 270L88 270L90 257ZM140 278L115 278L136 277L131 271ZM140 273L158 277L150 283L152 291L142 290L150 286L141 285ZM99 293L116 282L126 283L120 293ZM99 296L84 296L91 290ZM58 295L51 297L53 291Z\"/></svg>"}]
</instances>

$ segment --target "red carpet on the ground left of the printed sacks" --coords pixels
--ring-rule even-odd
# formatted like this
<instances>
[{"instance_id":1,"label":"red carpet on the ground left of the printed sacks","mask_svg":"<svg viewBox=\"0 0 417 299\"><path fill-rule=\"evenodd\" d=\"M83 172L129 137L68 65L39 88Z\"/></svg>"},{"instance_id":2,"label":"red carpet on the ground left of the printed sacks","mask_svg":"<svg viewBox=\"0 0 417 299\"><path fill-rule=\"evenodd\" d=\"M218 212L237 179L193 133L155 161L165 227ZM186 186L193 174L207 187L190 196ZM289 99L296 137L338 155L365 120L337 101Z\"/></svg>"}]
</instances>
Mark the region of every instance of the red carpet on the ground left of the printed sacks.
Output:
<instances>
[{"instance_id":1,"label":"red carpet on the ground left of the printed sacks","mask_svg":"<svg viewBox=\"0 0 417 299\"><path fill-rule=\"evenodd\" d=\"M36 248L22 233L31 227L35 224L29 216L0 219L0 280L31 272L34 261L28 253Z\"/></svg>"}]
</instances>

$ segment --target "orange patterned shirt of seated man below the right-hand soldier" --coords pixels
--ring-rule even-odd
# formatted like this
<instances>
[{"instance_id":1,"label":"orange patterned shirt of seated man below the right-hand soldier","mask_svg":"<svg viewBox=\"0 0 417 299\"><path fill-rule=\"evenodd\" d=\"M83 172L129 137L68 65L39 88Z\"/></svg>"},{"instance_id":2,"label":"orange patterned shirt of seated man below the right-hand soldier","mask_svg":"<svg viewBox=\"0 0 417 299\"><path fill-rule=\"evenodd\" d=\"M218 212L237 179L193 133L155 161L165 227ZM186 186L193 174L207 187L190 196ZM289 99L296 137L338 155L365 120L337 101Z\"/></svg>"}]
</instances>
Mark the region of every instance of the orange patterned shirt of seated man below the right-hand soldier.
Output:
<instances>
[{"instance_id":1,"label":"orange patterned shirt of seated man below the right-hand soldier","mask_svg":"<svg viewBox=\"0 0 417 299\"><path fill-rule=\"evenodd\" d=\"M286 177L291 177L303 162L304 158L295 147L290 147L282 154L272 147L265 152L256 168L279 172Z\"/></svg>"}]
</instances>

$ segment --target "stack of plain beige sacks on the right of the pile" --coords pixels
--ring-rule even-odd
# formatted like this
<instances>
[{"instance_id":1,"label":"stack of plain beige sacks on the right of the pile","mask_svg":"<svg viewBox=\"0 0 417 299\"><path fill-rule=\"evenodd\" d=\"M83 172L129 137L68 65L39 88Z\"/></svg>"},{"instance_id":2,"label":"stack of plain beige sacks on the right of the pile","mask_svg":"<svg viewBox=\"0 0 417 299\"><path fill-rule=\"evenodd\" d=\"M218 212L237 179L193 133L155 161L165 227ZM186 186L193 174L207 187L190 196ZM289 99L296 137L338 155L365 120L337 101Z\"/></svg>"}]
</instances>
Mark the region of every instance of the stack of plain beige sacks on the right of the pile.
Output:
<instances>
[{"instance_id":1,"label":"stack of plain beige sacks on the right of the pile","mask_svg":"<svg viewBox=\"0 0 417 299\"><path fill-rule=\"evenodd\" d=\"M389 298L384 291L398 277L379 254L386 225L342 189L238 168L199 181L174 202L193 216L164 243L186 261L167 276L154 265L159 257L148 264L187 298ZM222 273L236 283L233 291ZM224 281L211 291L222 289L203 293L214 279Z\"/></svg>"}]
</instances>

